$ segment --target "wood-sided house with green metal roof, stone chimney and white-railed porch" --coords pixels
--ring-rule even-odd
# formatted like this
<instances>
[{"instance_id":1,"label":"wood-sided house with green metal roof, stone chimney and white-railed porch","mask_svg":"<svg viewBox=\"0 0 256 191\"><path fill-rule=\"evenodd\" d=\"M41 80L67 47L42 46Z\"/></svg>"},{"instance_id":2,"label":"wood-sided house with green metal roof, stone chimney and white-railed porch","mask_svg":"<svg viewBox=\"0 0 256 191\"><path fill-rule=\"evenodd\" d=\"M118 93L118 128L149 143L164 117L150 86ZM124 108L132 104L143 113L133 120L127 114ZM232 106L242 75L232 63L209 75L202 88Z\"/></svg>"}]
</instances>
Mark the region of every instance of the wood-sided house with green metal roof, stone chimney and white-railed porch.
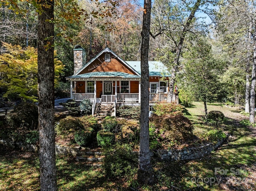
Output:
<instances>
[{"instance_id":1,"label":"wood-sided house with green metal roof, stone chimney and white-railed porch","mask_svg":"<svg viewBox=\"0 0 256 191\"><path fill-rule=\"evenodd\" d=\"M150 104L166 101L168 96L168 77L166 67L161 62L149 61ZM70 80L70 97L76 101L90 99L93 103L93 114L98 105L116 106L139 105L140 100L140 61L124 61L106 47L96 57L86 63L85 50L74 47L74 75ZM173 96L178 102L178 95ZM113 114L114 113L114 114Z\"/></svg>"}]
</instances>

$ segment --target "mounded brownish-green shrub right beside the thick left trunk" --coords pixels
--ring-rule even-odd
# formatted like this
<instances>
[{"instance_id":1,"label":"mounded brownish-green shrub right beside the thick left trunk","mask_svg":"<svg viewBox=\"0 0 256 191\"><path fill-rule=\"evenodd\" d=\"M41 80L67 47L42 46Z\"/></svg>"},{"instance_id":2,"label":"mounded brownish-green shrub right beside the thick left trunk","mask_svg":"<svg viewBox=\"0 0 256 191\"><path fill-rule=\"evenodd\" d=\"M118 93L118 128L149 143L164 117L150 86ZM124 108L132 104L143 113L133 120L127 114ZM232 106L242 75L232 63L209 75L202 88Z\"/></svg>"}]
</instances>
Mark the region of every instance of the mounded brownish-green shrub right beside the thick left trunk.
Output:
<instances>
[{"instance_id":1,"label":"mounded brownish-green shrub right beside the thick left trunk","mask_svg":"<svg viewBox=\"0 0 256 191\"><path fill-rule=\"evenodd\" d=\"M79 118L67 116L64 119L61 119L58 124L55 126L55 131L57 135L65 135L71 131L76 131L83 129L84 126Z\"/></svg>"}]
</instances>

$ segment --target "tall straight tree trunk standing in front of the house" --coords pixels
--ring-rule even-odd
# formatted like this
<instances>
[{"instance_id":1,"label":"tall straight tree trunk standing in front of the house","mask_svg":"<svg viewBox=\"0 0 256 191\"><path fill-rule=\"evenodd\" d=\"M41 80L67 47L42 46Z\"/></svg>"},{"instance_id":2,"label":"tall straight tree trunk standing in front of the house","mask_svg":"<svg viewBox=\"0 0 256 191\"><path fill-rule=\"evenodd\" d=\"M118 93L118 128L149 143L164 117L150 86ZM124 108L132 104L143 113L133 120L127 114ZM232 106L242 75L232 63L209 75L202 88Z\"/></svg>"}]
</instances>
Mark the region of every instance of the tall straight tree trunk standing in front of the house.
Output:
<instances>
[{"instance_id":1,"label":"tall straight tree trunk standing in front of the house","mask_svg":"<svg viewBox=\"0 0 256 191\"><path fill-rule=\"evenodd\" d=\"M143 184L154 183L154 170L150 164L149 150L149 70L148 48L150 35L151 0L144 0L141 46L141 105L140 105L140 151L138 181Z\"/></svg>"}]
</instances>

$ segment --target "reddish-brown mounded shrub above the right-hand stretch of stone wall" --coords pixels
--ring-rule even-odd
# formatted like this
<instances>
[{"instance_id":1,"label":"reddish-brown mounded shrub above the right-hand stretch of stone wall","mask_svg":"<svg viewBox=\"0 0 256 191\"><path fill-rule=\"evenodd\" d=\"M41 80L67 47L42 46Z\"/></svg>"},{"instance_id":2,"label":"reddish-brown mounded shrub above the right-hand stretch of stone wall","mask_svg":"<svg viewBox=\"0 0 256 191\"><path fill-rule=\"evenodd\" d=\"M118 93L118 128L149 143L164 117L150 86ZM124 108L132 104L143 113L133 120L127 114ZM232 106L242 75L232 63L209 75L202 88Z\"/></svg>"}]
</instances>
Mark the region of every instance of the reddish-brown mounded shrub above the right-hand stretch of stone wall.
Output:
<instances>
[{"instance_id":1,"label":"reddish-brown mounded shrub above the right-hand stretch of stone wall","mask_svg":"<svg viewBox=\"0 0 256 191\"><path fill-rule=\"evenodd\" d=\"M176 141L188 141L193 138L193 125L188 118L182 114L162 115L150 118L158 130L163 130L166 139ZM161 132L162 134L162 132Z\"/></svg>"}]
</instances>

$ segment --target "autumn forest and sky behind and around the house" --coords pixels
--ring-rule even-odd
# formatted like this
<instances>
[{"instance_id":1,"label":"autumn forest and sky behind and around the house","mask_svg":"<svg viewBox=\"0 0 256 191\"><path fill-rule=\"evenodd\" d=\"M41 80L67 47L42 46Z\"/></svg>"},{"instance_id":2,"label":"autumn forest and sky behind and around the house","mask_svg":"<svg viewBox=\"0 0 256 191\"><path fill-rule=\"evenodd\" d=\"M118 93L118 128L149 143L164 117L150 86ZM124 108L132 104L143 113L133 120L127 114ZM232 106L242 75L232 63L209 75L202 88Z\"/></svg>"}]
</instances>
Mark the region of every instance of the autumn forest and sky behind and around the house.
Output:
<instances>
[{"instance_id":1,"label":"autumn forest and sky behind and around the house","mask_svg":"<svg viewBox=\"0 0 256 191\"><path fill-rule=\"evenodd\" d=\"M69 89L65 77L73 74L76 44L86 49L86 61L104 47L124 60L140 60L143 4L134 0L116 2L111 16L104 14L108 2L55 2L56 14L68 12L64 18L55 19L56 91ZM16 3L26 11L17 12L13 5L2 3L0 12L1 97L36 101L37 73L29 62L36 58L33 47L38 46L38 13L27 1ZM83 10L83 14L78 15L75 9ZM182 104L217 101L243 105L249 112L249 90L254 89L250 81L255 75L254 10L251 0L152 3L149 60L162 61L168 67ZM10 62L12 67L7 64Z\"/></svg>"}]
</instances>

